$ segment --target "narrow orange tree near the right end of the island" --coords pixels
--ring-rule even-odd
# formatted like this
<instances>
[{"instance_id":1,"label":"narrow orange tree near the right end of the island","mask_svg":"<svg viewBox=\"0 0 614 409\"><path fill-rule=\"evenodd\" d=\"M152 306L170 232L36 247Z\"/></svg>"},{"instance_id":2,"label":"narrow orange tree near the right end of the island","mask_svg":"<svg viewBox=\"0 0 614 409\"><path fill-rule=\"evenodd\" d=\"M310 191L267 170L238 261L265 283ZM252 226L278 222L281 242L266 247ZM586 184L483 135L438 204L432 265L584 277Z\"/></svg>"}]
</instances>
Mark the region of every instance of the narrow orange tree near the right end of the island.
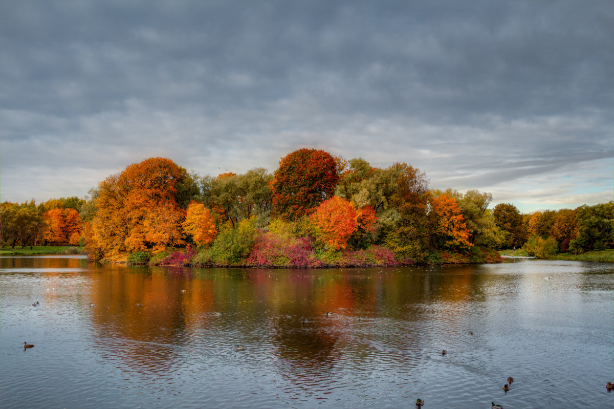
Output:
<instances>
[{"instance_id":1,"label":"narrow orange tree near the right end of the island","mask_svg":"<svg viewBox=\"0 0 614 409\"><path fill-rule=\"evenodd\" d=\"M467 249L473 246L469 242L470 232L465 224L461 207L455 198L443 194L432 198L431 211L435 216L435 244L446 249Z\"/></svg>"}]
</instances>

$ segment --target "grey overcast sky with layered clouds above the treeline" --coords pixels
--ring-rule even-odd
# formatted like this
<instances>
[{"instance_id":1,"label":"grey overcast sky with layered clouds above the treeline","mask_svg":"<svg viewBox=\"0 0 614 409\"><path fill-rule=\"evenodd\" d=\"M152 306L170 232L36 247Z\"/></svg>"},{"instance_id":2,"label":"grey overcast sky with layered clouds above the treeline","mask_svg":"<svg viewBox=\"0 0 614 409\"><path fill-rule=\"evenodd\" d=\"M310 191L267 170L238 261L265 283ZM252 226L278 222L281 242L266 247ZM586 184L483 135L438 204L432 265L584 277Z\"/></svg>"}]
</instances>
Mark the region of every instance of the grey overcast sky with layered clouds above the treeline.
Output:
<instances>
[{"instance_id":1,"label":"grey overcast sky with layered clouds above the treeline","mask_svg":"<svg viewBox=\"0 0 614 409\"><path fill-rule=\"evenodd\" d=\"M301 147L523 212L613 198L612 1L0 0L0 36L2 201Z\"/></svg>"}]
</instances>

